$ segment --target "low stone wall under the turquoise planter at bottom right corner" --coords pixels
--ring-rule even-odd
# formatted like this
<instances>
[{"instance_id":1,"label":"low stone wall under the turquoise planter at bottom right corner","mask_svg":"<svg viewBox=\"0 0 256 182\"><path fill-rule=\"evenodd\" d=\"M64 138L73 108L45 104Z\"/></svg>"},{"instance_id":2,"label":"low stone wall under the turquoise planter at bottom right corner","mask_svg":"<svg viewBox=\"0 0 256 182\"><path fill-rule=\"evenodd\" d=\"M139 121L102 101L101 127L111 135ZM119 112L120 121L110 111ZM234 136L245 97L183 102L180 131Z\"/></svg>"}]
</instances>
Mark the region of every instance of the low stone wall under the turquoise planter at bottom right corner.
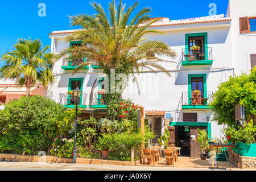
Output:
<instances>
[{"instance_id":1,"label":"low stone wall under the turquoise planter at bottom right corner","mask_svg":"<svg viewBox=\"0 0 256 182\"><path fill-rule=\"evenodd\" d=\"M240 168L255 168L256 167L256 158L246 157L237 152L234 152L232 149L228 148L228 154L232 163L236 164Z\"/></svg>"}]
</instances>

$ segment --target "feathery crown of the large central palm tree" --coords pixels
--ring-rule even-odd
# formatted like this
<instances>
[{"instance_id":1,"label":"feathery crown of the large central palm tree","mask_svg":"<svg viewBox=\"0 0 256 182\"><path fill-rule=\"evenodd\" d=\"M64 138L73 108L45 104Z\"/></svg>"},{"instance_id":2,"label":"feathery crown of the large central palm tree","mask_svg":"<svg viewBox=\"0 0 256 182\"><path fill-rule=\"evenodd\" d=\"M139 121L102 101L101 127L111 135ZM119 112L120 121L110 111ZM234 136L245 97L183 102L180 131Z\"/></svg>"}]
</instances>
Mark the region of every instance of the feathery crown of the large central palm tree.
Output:
<instances>
[{"instance_id":1,"label":"feathery crown of the large central palm tree","mask_svg":"<svg viewBox=\"0 0 256 182\"><path fill-rule=\"evenodd\" d=\"M163 34L163 32L148 28L159 20L159 18L150 19L150 7L142 9L133 18L130 18L139 2L136 1L125 11L122 0L119 5L115 5L113 0L112 3L109 3L108 18L100 4L96 2L90 4L97 14L71 16L72 26L80 26L81 29L73 32L66 39L67 42L81 40L81 46L64 49L56 56L56 59L83 59L86 56L86 61L77 67L72 72L73 74L81 67L93 64L100 66L103 73L108 76L110 76L110 69L115 69L115 75L125 73L127 77L133 76L135 81L137 80L134 73L142 72L143 68L155 73L156 70L162 71L171 76L159 63L174 61L163 60L160 57L175 58L176 53L166 43L147 40L144 37L146 34Z\"/></svg>"}]
</instances>

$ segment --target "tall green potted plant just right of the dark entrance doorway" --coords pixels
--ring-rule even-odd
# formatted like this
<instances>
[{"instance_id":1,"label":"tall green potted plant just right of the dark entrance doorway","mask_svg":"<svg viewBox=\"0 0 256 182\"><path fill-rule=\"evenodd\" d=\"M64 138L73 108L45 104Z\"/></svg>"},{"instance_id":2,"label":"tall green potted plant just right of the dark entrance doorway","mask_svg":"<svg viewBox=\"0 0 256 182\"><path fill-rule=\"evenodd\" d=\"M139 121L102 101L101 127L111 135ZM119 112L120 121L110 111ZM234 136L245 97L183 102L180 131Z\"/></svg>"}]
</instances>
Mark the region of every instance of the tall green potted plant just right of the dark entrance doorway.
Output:
<instances>
[{"instance_id":1,"label":"tall green potted plant just right of the dark entrance doorway","mask_svg":"<svg viewBox=\"0 0 256 182\"><path fill-rule=\"evenodd\" d=\"M200 144L201 148L201 154L200 157L202 160L205 160L207 158L207 152L209 148L209 143L208 143L208 134L206 130L199 130L197 128L199 134L197 135L196 141Z\"/></svg>"}]
</instances>

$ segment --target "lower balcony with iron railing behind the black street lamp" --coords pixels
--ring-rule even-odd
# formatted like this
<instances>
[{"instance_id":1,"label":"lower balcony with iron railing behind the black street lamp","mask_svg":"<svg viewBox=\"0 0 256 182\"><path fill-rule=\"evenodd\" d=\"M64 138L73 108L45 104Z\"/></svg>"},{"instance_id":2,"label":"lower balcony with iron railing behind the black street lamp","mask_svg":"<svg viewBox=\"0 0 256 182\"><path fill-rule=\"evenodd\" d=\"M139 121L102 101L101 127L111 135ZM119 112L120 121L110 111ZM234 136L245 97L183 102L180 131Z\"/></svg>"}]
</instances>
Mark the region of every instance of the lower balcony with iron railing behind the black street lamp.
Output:
<instances>
[{"instance_id":1,"label":"lower balcony with iron railing behind the black street lamp","mask_svg":"<svg viewBox=\"0 0 256 182\"><path fill-rule=\"evenodd\" d=\"M59 104L74 106L76 105L76 100L78 105L86 105L86 93L81 93L81 97L78 99L74 95L68 95L68 93L59 94Z\"/></svg>"}]
</instances>

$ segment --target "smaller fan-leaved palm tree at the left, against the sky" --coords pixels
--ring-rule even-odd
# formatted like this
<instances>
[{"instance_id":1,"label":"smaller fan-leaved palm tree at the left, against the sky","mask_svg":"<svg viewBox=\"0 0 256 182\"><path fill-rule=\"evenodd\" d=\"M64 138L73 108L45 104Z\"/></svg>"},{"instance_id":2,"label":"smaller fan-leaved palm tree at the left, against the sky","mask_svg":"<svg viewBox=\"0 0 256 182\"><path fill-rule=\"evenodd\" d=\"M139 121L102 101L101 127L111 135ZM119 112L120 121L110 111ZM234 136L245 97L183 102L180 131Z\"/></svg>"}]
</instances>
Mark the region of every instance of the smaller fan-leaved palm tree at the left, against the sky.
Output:
<instances>
[{"instance_id":1,"label":"smaller fan-leaved palm tree at the left, against the sky","mask_svg":"<svg viewBox=\"0 0 256 182\"><path fill-rule=\"evenodd\" d=\"M30 88L36 81L42 82L44 89L54 81L52 70L52 54L49 46L42 47L39 39L18 39L15 49L1 56L5 61L0 69L0 78L10 78L22 87L26 85L26 96L30 96Z\"/></svg>"}]
</instances>

